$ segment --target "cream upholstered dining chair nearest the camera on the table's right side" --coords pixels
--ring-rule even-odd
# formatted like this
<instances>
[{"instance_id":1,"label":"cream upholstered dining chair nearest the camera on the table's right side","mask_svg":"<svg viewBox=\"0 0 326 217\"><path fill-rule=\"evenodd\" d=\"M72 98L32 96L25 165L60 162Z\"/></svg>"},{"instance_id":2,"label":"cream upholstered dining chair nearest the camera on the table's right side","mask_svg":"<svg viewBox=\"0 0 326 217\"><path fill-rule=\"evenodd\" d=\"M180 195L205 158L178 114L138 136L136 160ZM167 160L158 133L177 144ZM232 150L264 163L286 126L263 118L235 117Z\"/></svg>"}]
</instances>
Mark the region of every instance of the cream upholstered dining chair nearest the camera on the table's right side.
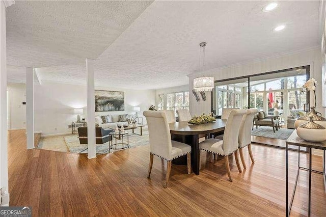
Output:
<instances>
[{"instance_id":1,"label":"cream upholstered dining chair nearest the camera on the table's right side","mask_svg":"<svg viewBox=\"0 0 326 217\"><path fill-rule=\"evenodd\" d=\"M229 180L232 181L229 156L234 153L236 166L241 173L241 167L238 159L238 138L240 130L240 122L243 115L246 114L246 110L233 110L230 112L228 120L226 122L223 140L208 139L199 143L199 149L213 154L223 155L225 159L225 166L229 176Z\"/></svg>"}]
</instances>

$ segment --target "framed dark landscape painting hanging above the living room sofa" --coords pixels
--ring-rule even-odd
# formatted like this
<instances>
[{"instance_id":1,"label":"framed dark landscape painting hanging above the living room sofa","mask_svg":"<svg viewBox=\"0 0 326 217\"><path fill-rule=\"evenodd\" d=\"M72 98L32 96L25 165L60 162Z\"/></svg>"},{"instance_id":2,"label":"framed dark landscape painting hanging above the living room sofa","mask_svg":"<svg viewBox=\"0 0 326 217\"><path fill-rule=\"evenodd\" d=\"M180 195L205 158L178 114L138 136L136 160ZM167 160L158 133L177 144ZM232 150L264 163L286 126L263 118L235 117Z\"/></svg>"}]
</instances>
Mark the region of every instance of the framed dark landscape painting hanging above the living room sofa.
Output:
<instances>
[{"instance_id":1,"label":"framed dark landscape painting hanging above the living room sofa","mask_svg":"<svg viewBox=\"0 0 326 217\"><path fill-rule=\"evenodd\" d=\"M124 111L124 92L95 90L95 112Z\"/></svg>"}]
</instances>

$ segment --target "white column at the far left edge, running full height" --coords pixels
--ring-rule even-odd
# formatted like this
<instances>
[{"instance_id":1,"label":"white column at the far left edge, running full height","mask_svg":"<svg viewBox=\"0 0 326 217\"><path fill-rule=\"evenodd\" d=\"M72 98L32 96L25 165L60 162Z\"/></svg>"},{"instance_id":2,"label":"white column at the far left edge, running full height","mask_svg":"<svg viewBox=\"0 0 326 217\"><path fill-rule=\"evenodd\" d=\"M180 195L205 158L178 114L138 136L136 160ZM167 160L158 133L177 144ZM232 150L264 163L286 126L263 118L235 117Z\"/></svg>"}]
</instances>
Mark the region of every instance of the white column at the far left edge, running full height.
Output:
<instances>
[{"instance_id":1,"label":"white column at the far left edge, running full height","mask_svg":"<svg viewBox=\"0 0 326 217\"><path fill-rule=\"evenodd\" d=\"M0 1L0 188L5 191L1 206L9 206L9 195L5 195L8 194L6 7L12 4L14 1Z\"/></svg>"}]
</instances>

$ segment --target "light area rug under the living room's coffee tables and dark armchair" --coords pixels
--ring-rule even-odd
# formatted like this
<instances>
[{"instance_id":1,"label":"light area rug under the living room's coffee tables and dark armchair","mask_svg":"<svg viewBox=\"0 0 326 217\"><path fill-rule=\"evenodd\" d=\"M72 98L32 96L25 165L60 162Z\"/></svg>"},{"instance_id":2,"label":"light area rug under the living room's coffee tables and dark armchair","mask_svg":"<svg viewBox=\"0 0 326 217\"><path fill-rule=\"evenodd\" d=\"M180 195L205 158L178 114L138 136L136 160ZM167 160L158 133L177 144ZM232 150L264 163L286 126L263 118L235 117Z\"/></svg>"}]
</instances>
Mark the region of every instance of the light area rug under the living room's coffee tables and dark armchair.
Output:
<instances>
[{"instance_id":1,"label":"light area rug under the living room's coffee tables and dark armchair","mask_svg":"<svg viewBox=\"0 0 326 217\"><path fill-rule=\"evenodd\" d=\"M129 132L129 148L149 145L149 135L148 135L147 127L143 127L143 135L133 134L131 130L127 130L127 131ZM66 135L64 137L64 140L71 153L87 154L88 151L87 144L80 144L78 135ZM119 140L117 140L117 142L119 142ZM104 144L96 144L96 154L109 153L108 144L109 144L108 142ZM111 149L110 153L114 151L120 151L120 150Z\"/></svg>"}]
</instances>

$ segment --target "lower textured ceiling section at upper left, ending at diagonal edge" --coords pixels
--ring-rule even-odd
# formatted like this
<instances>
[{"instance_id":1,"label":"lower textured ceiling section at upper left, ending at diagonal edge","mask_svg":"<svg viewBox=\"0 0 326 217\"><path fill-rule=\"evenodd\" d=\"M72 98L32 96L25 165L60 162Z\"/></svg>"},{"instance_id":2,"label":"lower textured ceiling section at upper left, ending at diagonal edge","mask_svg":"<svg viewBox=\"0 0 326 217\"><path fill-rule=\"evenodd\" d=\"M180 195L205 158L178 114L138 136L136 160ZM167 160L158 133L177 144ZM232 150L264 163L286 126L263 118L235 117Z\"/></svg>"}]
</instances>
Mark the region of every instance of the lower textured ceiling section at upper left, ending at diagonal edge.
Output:
<instances>
[{"instance_id":1,"label":"lower textured ceiling section at upper left, ending at diagonal edge","mask_svg":"<svg viewBox=\"0 0 326 217\"><path fill-rule=\"evenodd\" d=\"M151 4L16 1L7 8L7 63L44 67L96 59Z\"/></svg>"}]
</instances>

